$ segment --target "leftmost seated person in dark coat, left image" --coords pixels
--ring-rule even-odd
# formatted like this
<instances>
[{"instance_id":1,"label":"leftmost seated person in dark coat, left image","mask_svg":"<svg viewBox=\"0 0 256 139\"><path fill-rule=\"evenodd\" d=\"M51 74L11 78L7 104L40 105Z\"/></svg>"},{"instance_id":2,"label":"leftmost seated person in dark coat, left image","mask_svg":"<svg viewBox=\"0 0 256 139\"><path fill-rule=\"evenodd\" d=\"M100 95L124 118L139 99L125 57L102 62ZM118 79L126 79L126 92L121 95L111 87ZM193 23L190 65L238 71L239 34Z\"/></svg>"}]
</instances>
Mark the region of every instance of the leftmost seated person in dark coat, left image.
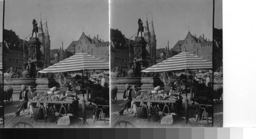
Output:
<instances>
[{"instance_id":1,"label":"leftmost seated person in dark coat, left image","mask_svg":"<svg viewBox=\"0 0 256 139\"><path fill-rule=\"evenodd\" d=\"M22 108L27 108L27 104L28 104L28 90L26 90L27 87L25 85L22 85L22 91L20 91L19 93L19 104L18 104L18 110L15 113L16 116L19 116L20 114L20 110L22 110Z\"/></svg>"}]
</instances>

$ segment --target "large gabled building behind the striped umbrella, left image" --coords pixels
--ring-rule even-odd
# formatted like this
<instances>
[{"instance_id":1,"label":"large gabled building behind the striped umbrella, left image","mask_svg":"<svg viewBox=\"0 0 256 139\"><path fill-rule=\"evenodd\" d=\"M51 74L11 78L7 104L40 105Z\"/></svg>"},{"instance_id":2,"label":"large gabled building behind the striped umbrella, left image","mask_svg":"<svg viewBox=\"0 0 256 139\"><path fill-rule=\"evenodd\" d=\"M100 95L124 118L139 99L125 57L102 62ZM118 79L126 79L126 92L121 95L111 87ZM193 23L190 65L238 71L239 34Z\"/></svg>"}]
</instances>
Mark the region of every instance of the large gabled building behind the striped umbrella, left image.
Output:
<instances>
[{"instance_id":1,"label":"large gabled building behind the striped umbrella, left image","mask_svg":"<svg viewBox=\"0 0 256 139\"><path fill-rule=\"evenodd\" d=\"M109 61L109 45L109 42L104 42L104 40L98 39L98 35L97 38L95 36L93 38L90 38L90 35L86 36L86 34L82 32L79 40L72 41L66 51L71 52L72 54L83 51L88 54L94 55L95 57L99 57L101 59Z\"/></svg>"}]
</instances>

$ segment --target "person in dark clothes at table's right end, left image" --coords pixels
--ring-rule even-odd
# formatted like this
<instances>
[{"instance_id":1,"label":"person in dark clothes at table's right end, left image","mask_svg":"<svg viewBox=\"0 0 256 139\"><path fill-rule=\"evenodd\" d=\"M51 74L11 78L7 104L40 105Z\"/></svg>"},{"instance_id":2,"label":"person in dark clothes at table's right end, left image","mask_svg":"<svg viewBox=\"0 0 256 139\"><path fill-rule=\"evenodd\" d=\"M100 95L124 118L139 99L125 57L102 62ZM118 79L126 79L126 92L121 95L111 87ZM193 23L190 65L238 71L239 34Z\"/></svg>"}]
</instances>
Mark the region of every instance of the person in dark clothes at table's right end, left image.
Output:
<instances>
[{"instance_id":1,"label":"person in dark clothes at table's right end, left image","mask_svg":"<svg viewBox=\"0 0 256 139\"><path fill-rule=\"evenodd\" d=\"M79 104L79 101L78 101L78 97L76 95L76 92L73 92L71 90L71 86L69 84L66 84L65 85L66 87L66 93L65 93L65 96L71 96L71 97L74 97L75 101L73 101L72 104L70 104L70 106L73 108L73 111L74 111L74 115L78 115L77 111L78 111L78 104Z\"/></svg>"}]
</instances>

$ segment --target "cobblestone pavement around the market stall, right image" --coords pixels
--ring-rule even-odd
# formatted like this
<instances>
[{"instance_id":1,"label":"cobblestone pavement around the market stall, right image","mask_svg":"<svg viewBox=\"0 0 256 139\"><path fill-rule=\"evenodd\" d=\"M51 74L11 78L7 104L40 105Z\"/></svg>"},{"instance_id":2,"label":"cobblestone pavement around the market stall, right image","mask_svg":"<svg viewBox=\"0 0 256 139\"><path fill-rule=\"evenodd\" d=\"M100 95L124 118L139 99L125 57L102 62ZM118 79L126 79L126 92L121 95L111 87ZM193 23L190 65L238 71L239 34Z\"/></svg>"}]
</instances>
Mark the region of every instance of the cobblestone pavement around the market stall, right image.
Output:
<instances>
[{"instance_id":1,"label":"cobblestone pavement around the market stall, right image","mask_svg":"<svg viewBox=\"0 0 256 139\"><path fill-rule=\"evenodd\" d=\"M148 119L138 119L137 117L133 117L133 109L129 108L129 112L127 112L126 108L124 110L124 114L122 116L119 115L119 110L121 108L121 104L124 101L122 99L122 95L123 93L117 93L117 102L116 103L111 103L111 127L114 126L114 124L118 121L121 120L125 120L125 121L129 121L132 124L135 125L135 127L159 127L159 128L166 128L166 127L181 127L182 124L184 123L184 109L181 111L181 113L183 113L183 115L180 116L176 116L174 117L174 122L172 125L161 125L161 123L159 122L153 122L151 119L151 122L148 122ZM188 95L189 98L189 95ZM183 108L184 108L184 99L185 99L185 94L183 94ZM223 105L221 104L217 104L216 102L214 103L215 107L214 107L214 126L216 127L221 127L223 124ZM209 121L210 123L207 123L207 120L202 120L199 121L196 124L196 118L195 118L195 114L196 114L196 109L195 107L193 107L191 105L191 102L189 102L189 121L191 122L191 124L194 127L211 127L211 121ZM186 127L191 127L191 125L186 124Z\"/></svg>"}]
</instances>

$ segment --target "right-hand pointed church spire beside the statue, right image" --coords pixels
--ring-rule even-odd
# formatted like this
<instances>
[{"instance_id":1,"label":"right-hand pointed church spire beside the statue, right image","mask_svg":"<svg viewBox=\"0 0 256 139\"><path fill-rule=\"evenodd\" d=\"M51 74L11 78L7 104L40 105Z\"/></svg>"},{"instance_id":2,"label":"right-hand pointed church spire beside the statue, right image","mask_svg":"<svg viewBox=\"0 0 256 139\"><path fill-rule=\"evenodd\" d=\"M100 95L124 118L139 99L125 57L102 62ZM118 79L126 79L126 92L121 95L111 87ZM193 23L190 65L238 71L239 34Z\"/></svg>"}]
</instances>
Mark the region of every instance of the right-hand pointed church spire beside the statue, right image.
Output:
<instances>
[{"instance_id":1,"label":"right-hand pointed church spire beside the statue, right image","mask_svg":"<svg viewBox=\"0 0 256 139\"><path fill-rule=\"evenodd\" d=\"M155 29L153 25L153 17L152 17L152 28L151 28L151 60L153 65L156 64L156 57L157 57L157 40L155 35Z\"/></svg>"}]
</instances>

